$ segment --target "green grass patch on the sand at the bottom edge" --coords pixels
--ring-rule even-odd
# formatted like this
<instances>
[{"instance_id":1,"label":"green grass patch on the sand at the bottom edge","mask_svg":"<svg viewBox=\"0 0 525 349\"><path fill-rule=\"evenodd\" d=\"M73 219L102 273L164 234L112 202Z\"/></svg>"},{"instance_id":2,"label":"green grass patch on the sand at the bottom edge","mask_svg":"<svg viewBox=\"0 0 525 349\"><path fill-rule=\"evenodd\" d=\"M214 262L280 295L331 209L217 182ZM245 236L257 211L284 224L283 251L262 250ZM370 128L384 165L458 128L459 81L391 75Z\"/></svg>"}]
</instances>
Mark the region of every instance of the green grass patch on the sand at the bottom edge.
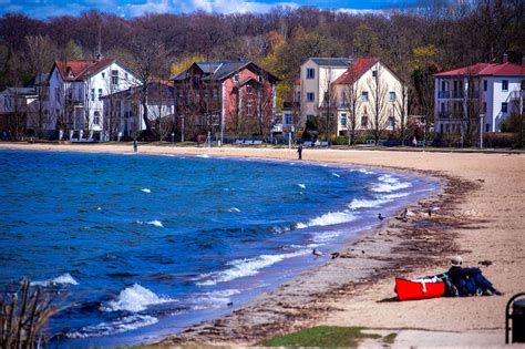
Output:
<instances>
[{"instance_id":1,"label":"green grass patch on the sand at the bottom edge","mask_svg":"<svg viewBox=\"0 0 525 349\"><path fill-rule=\"evenodd\" d=\"M257 345L264 347L357 347L361 339L381 338L379 335L363 333L362 329L362 327L318 326L282 337L265 339Z\"/></svg>"}]
</instances>

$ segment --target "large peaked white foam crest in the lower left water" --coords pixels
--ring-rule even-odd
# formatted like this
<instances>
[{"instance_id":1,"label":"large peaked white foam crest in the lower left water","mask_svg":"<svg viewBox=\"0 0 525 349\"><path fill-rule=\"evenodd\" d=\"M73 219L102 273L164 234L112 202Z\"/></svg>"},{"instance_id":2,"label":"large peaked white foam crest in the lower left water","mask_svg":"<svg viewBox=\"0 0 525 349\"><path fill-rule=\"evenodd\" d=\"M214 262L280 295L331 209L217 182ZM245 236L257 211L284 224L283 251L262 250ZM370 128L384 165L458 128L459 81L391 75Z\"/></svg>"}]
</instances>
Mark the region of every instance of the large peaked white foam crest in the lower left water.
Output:
<instances>
[{"instance_id":1,"label":"large peaked white foam crest in the lower left water","mask_svg":"<svg viewBox=\"0 0 525 349\"><path fill-rule=\"evenodd\" d=\"M159 305L163 302L175 301L171 298L158 297L152 290L134 284L120 292L116 300L111 300L106 306L102 307L104 311L126 310L138 312L145 310L148 306Z\"/></svg>"}]
</instances>

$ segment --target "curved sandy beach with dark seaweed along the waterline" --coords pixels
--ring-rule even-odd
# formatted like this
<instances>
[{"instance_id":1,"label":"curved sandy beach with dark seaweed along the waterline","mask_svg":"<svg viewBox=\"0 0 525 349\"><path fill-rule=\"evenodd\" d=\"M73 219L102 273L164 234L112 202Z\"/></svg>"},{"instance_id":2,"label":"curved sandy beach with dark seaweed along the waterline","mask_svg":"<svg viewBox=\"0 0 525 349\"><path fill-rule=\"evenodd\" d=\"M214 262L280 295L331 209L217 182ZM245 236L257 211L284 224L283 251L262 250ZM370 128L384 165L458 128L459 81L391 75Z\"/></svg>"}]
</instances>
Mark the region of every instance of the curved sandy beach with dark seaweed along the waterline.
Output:
<instances>
[{"instance_id":1,"label":"curved sandy beach with dark seaweed along the waterline","mask_svg":"<svg viewBox=\"0 0 525 349\"><path fill-rule=\"evenodd\" d=\"M0 150L6 148L133 151L131 145L116 144L0 144ZM297 157L294 150L267 147L207 150L140 145L138 152L276 160ZM243 308L234 307L230 315L194 326L162 343L251 345L268 336L313 325L387 329L399 333L394 343L399 346L504 343L506 301L525 290L523 153L306 148L302 157L310 162L415 172L439 178L442 189L413 203L409 207L409 223L385 219L358 240L341 246L337 250L339 258L327 257L323 266L303 273ZM429 217L429 207L440 209ZM394 276L444 271L449 268L449 257L455 254L462 255L469 266L481 266L505 295L395 301ZM488 263L480 265L481 261ZM456 339L451 342L450 338Z\"/></svg>"}]
</instances>

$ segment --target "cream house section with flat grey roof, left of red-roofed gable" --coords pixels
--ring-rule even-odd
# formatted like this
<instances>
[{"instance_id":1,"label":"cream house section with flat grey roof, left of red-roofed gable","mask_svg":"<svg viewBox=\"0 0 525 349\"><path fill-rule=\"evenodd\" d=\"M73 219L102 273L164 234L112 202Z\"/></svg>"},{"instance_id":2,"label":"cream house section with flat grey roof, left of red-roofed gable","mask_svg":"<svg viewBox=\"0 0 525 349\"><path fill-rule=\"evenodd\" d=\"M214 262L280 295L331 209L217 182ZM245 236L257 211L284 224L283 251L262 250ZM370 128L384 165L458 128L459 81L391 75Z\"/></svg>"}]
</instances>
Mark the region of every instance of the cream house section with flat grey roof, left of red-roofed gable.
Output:
<instances>
[{"instance_id":1,"label":"cream house section with flat grey roof, left of red-roofed gable","mask_svg":"<svg viewBox=\"0 0 525 349\"><path fill-rule=\"evenodd\" d=\"M297 124L303 126L307 120L321 115L320 109L330 85L352 63L351 58L310 58L302 63L299 83L301 120Z\"/></svg>"}]
</instances>

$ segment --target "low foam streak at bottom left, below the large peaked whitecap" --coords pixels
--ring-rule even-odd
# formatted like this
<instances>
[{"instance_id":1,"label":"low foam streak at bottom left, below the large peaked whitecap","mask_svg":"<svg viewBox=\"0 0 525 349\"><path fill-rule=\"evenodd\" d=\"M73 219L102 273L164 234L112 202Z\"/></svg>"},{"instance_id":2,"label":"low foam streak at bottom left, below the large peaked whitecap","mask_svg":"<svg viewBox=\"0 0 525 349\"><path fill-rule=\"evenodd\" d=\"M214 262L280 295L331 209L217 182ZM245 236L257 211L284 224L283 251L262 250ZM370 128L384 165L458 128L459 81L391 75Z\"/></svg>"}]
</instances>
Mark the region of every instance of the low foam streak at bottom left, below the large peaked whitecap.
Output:
<instances>
[{"instance_id":1,"label":"low foam streak at bottom left, below the large peaked whitecap","mask_svg":"<svg viewBox=\"0 0 525 349\"><path fill-rule=\"evenodd\" d=\"M157 324L158 319L148 315L134 314L132 316L123 317L113 322L106 324L101 322L95 326L86 326L80 331L66 333L68 338L87 338L87 337L102 337L121 333L130 330L134 330L141 327Z\"/></svg>"}]
</instances>

